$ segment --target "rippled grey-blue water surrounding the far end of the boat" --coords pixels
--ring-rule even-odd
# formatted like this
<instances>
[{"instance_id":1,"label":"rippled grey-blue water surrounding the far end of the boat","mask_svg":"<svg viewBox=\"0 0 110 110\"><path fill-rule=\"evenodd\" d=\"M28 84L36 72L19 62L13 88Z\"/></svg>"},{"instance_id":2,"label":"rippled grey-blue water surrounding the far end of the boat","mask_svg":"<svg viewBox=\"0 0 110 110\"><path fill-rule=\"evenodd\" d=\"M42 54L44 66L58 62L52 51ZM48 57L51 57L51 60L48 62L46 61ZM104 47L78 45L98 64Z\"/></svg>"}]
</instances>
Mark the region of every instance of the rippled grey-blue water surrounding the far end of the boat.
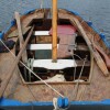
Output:
<instances>
[{"instance_id":1,"label":"rippled grey-blue water surrounding the far end of the boat","mask_svg":"<svg viewBox=\"0 0 110 110\"><path fill-rule=\"evenodd\" d=\"M52 0L0 0L0 30L4 30L14 11L21 14L41 7L51 8ZM58 8L77 11L85 20L91 20L99 32L103 32L110 43L110 0L58 0Z\"/></svg>"}]
</instances>

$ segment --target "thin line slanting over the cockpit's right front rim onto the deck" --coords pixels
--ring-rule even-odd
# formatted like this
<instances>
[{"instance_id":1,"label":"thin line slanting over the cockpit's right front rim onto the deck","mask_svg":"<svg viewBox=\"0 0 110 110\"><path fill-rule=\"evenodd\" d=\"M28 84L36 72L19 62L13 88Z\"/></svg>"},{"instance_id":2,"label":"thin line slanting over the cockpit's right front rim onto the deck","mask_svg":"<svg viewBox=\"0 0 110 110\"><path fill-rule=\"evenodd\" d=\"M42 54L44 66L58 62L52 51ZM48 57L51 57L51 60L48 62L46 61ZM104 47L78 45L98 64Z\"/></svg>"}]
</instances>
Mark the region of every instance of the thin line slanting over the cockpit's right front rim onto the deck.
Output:
<instances>
[{"instance_id":1,"label":"thin line slanting over the cockpit's right front rim onto the deck","mask_svg":"<svg viewBox=\"0 0 110 110\"><path fill-rule=\"evenodd\" d=\"M77 97L78 87L79 87L79 79L80 79L80 77L81 77L81 75L82 75L82 70L84 70L84 67L85 67L86 59L87 59L87 55L86 55L86 57L85 57L85 59L84 59L84 64L82 64L82 67L81 67L81 70L80 70L80 74L79 74L79 77L78 77L78 81L77 81L77 84L76 84L76 90L74 90L74 100L75 100L76 97Z\"/></svg>"}]
</instances>

